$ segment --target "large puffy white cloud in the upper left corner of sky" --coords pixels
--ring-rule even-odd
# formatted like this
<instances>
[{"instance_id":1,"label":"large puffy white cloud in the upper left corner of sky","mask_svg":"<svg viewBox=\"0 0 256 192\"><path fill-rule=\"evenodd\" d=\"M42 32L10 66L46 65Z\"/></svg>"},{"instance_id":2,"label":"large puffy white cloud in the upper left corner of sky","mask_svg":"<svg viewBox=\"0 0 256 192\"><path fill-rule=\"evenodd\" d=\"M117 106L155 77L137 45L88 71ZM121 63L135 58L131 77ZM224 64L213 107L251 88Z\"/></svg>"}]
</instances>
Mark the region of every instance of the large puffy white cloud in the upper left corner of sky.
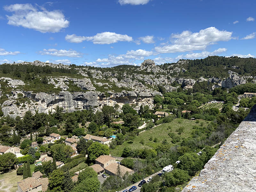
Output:
<instances>
[{"instance_id":1,"label":"large puffy white cloud in the upper left corner of sky","mask_svg":"<svg viewBox=\"0 0 256 192\"><path fill-rule=\"evenodd\" d=\"M12 16L6 15L9 25L22 26L42 33L56 33L69 25L69 21L59 10L46 11L43 9L38 11L31 4L6 5L4 10L14 12Z\"/></svg>"}]
</instances>

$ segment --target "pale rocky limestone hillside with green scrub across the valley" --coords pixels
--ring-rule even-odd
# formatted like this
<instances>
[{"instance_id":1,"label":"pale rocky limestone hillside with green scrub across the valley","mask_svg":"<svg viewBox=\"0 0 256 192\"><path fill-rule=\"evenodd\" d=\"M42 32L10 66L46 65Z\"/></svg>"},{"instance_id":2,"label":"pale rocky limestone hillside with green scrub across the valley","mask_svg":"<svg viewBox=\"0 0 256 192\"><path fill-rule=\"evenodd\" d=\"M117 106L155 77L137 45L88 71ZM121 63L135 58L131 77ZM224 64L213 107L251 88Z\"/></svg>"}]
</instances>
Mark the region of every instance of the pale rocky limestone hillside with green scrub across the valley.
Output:
<instances>
[{"instance_id":1,"label":"pale rocky limestone hillside with green scrub across the valley","mask_svg":"<svg viewBox=\"0 0 256 192\"><path fill-rule=\"evenodd\" d=\"M241 65L222 63L216 68L216 71L221 70L219 77L206 76L202 68L198 69L198 73L201 70L204 75L196 74L196 77L190 72L194 67L191 60L160 66L155 65L153 60L145 60L140 67L113 68L68 66L40 61L2 64L0 103L4 115L13 117L23 116L28 110L32 113L54 112L58 105L64 112L88 108L97 111L104 105L116 104L122 108L125 103L136 104L135 110L139 110L141 104L152 108L156 94L162 95L163 91L181 88L192 89L199 82L207 82L212 90L217 87L232 88L249 81L256 83L256 76L236 73Z\"/></svg>"}]
</instances>

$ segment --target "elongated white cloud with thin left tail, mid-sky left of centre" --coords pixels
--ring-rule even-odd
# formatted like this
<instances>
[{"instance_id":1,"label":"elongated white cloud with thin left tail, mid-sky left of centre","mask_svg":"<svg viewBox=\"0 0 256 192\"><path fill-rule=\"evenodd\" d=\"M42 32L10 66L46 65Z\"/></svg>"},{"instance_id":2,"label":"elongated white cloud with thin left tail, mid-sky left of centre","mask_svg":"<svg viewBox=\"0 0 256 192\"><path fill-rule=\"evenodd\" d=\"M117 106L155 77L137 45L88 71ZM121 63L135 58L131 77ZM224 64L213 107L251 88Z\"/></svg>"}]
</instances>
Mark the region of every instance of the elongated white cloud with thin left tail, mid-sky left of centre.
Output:
<instances>
[{"instance_id":1,"label":"elongated white cloud with thin left tail, mid-sky left of centre","mask_svg":"<svg viewBox=\"0 0 256 192\"><path fill-rule=\"evenodd\" d=\"M66 41L70 43L81 43L83 41L92 41L93 44L111 44L118 41L132 41L128 35L117 34L113 32L97 33L95 36L77 36L76 34L66 35Z\"/></svg>"}]
</instances>

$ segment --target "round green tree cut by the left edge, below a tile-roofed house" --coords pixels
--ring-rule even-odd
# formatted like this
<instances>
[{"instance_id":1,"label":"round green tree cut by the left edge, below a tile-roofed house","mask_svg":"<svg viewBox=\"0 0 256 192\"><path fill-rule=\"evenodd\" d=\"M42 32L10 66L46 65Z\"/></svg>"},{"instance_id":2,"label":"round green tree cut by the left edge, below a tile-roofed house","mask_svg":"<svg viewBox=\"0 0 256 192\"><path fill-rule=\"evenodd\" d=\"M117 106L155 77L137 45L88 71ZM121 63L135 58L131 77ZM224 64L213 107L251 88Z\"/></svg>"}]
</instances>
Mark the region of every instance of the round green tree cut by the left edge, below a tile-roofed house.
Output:
<instances>
[{"instance_id":1,"label":"round green tree cut by the left edge, below a tile-roofed house","mask_svg":"<svg viewBox=\"0 0 256 192\"><path fill-rule=\"evenodd\" d=\"M14 167L16 162L17 162L17 158L13 153L4 153L3 155L0 155L0 170L11 171L11 168Z\"/></svg>"}]
</instances>

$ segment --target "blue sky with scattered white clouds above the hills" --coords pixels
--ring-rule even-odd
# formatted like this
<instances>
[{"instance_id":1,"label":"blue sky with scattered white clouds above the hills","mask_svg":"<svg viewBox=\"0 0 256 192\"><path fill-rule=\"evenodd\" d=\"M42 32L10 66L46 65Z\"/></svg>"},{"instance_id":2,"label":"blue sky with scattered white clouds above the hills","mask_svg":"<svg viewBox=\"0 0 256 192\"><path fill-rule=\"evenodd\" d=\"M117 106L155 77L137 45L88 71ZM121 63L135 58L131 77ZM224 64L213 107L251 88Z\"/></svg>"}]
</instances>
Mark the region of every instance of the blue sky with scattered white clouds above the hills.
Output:
<instances>
[{"instance_id":1,"label":"blue sky with scattered white clouds above the hills","mask_svg":"<svg viewBox=\"0 0 256 192\"><path fill-rule=\"evenodd\" d=\"M0 1L0 63L255 57L254 0Z\"/></svg>"}]
</instances>

